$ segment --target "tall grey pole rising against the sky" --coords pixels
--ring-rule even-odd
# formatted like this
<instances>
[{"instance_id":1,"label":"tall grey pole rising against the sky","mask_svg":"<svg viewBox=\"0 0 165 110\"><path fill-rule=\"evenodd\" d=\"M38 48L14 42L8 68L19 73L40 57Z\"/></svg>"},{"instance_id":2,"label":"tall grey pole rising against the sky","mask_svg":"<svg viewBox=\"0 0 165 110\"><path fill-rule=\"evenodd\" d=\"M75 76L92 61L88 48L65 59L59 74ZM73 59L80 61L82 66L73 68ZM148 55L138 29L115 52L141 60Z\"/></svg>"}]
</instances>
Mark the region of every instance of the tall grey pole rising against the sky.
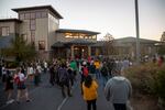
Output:
<instances>
[{"instance_id":1,"label":"tall grey pole rising against the sky","mask_svg":"<svg viewBox=\"0 0 165 110\"><path fill-rule=\"evenodd\" d=\"M135 0L135 29L136 29L136 63L140 64L140 26L139 26L139 2Z\"/></svg>"}]
</instances>

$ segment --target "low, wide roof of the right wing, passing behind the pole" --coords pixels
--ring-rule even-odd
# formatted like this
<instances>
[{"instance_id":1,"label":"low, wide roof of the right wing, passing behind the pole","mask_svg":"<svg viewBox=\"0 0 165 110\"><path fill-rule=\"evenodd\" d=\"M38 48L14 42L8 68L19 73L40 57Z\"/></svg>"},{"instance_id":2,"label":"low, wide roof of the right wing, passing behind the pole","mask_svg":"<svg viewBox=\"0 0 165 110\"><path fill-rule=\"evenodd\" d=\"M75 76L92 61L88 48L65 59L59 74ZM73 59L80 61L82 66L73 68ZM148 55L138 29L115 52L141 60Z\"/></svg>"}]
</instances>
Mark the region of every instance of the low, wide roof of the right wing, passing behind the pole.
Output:
<instances>
[{"instance_id":1,"label":"low, wide roof of the right wing, passing behind the pole","mask_svg":"<svg viewBox=\"0 0 165 110\"><path fill-rule=\"evenodd\" d=\"M139 38L139 40L140 40L140 43L157 43L158 42L158 41L146 40L146 38ZM136 37L128 36L128 37L117 38L114 41L116 42L122 42L122 43L135 43Z\"/></svg>"}]
</instances>

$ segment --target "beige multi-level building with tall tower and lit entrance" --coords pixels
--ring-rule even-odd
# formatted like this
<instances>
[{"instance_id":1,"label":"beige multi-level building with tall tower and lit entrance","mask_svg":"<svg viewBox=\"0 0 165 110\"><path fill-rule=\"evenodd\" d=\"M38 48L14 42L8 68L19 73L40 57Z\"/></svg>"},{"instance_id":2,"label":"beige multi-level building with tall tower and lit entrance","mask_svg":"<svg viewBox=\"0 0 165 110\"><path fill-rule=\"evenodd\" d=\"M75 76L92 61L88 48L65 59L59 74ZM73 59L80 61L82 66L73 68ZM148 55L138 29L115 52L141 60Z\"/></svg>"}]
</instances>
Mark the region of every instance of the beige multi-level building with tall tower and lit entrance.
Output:
<instances>
[{"instance_id":1,"label":"beige multi-level building with tall tower and lit entrance","mask_svg":"<svg viewBox=\"0 0 165 110\"><path fill-rule=\"evenodd\" d=\"M18 19L0 20L0 48L10 47L10 40L21 35L33 43L40 58L65 57L80 58L103 55L105 42L97 41L99 32L87 30L59 29L63 16L52 6L12 9ZM154 53L156 41L143 40L147 54ZM135 38L116 40L117 55L135 55ZM144 53L146 54L146 53Z\"/></svg>"}]
</instances>

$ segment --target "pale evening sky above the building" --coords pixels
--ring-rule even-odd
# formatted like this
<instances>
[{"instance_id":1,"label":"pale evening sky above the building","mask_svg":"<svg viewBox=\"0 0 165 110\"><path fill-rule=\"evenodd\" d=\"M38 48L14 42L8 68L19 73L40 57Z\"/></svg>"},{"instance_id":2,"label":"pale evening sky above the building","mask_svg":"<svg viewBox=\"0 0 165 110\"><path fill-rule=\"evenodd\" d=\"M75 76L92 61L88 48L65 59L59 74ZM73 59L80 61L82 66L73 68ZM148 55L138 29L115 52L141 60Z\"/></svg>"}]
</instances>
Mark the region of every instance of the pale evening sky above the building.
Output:
<instances>
[{"instance_id":1,"label":"pale evening sky above the building","mask_svg":"<svg viewBox=\"0 0 165 110\"><path fill-rule=\"evenodd\" d=\"M11 9L51 4L64 18L61 29L89 30L114 38L135 37L134 0L0 0L0 18ZM139 0L140 37L160 41L165 31L165 0Z\"/></svg>"}]
</instances>

